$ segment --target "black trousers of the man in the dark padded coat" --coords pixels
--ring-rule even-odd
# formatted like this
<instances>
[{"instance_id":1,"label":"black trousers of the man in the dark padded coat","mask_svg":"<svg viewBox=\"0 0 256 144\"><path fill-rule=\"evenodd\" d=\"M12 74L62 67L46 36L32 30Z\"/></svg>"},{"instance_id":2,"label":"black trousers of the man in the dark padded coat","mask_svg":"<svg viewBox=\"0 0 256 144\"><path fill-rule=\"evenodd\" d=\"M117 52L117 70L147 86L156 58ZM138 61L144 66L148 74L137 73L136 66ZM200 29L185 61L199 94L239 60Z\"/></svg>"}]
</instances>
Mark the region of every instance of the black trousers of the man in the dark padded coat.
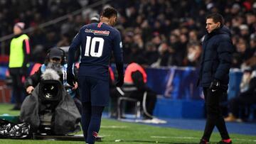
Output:
<instances>
[{"instance_id":1,"label":"black trousers of the man in the dark padded coat","mask_svg":"<svg viewBox=\"0 0 256 144\"><path fill-rule=\"evenodd\" d=\"M224 94L223 90L218 89L213 92L211 89L204 87L203 94L206 100L207 118L202 139L209 141L215 126L218 128L222 139L230 138L220 109L220 98Z\"/></svg>"}]
</instances>

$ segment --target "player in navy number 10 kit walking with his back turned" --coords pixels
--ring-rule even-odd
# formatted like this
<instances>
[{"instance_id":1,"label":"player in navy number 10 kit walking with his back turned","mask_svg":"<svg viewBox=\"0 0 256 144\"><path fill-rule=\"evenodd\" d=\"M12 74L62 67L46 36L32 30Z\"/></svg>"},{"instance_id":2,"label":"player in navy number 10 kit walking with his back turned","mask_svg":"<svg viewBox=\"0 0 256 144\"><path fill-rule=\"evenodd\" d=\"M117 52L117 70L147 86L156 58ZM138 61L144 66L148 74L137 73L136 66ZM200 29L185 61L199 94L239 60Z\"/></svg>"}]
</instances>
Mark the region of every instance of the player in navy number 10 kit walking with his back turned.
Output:
<instances>
[{"instance_id":1,"label":"player in navy number 10 kit walking with his back turned","mask_svg":"<svg viewBox=\"0 0 256 144\"><path fill-rule=\"evenodd\" d=\"M113 28L117 22L117 10L106 8L100 16L100 23L82 26L68 50L68 84L74 85L73 75L75 50L81 48L81 62L78 70L78 88L82 101L82 131L86 143L95 143L102 111L110 99L108 66L112 51L117 66L116 86L124 83L121 35Z\"/></svg>"}]
</instances>

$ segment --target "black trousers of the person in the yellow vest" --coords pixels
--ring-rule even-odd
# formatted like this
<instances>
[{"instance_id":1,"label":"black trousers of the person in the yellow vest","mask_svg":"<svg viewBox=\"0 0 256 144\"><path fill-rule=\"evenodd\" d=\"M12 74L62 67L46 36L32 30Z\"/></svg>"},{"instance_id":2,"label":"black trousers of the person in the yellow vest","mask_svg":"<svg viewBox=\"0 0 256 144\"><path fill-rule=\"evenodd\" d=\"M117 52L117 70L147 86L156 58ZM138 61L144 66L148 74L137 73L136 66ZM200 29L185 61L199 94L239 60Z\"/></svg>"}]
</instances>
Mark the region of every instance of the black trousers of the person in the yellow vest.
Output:
<instances>
[{"instance_id":1,"label":"black trousers of the person in the yellow vest","mask_svg":"<svg viewBox=\"0 0 256 144\"><path fill-rule=\"evenodd\" d=\"M22 104L22 96L25 94L25 88L22 84L22 68L21 67L15 67L15 68L9 68L9 72L12 79L12 92L15 97L15 102L17 106L21 106Z\"/></svg>"}]
</instances>

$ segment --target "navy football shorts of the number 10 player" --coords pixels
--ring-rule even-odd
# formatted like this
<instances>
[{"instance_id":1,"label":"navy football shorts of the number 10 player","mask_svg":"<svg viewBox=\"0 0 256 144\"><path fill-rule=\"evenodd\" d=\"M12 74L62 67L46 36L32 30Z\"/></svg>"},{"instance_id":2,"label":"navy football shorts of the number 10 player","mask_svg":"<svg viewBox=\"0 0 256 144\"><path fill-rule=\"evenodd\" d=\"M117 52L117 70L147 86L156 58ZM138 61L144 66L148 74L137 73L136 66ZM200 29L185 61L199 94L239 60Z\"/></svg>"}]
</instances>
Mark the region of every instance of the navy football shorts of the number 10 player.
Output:
<instances>
[{"instance_id":1,"label":"navy football shorts of the number 10 player","mask_svg":"<svg viewBox=\"0 0 256 144\"><path fill-rule=\"evenodd\" d=\"M95 77L78 77L78 87L82 102L91 102L92 106L107 106L110 100L108 80Z\"/></svg>"}]
</instances>

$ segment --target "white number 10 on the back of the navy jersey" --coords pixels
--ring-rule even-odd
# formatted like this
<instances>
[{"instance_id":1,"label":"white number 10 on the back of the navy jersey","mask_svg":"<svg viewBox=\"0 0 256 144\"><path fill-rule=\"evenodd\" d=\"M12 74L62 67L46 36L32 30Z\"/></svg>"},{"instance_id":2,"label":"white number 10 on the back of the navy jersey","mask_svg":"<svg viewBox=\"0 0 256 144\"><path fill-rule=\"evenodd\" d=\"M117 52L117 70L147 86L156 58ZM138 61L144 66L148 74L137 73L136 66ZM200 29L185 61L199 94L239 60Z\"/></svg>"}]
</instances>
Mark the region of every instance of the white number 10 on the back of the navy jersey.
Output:
<instances>
[{"instance_id":1,"label":"white number 10 on the back of the navy jersey","mask_svg":"<svg viewBox=\"0 0 256 144\"><path fill-rule=\"evenodd\" d=\"M98 50L95 52L96 43L99 43ZM85 56L86 57L101 57L103 51L104 39L99 37L86 36ZM90 54L89 54L90 52Z\"/></svg>"}]
</instances>

